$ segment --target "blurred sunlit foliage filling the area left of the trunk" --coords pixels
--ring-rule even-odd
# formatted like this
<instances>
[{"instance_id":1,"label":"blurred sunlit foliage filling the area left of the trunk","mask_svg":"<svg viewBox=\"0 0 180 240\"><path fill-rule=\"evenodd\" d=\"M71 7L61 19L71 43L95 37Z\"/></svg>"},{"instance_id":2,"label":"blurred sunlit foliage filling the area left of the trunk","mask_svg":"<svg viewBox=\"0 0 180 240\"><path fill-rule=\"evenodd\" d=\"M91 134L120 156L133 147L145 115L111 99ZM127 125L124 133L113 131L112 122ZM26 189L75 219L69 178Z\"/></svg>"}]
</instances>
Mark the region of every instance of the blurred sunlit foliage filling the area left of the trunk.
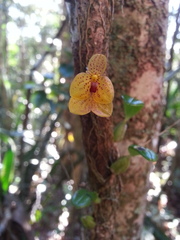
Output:
<instances>
[{"instance_id":1,"label":"blurred sunlit foliage filling the area left of the trunk","mask_svg":"<svg viewBox=\"0 0 180 240\"><path fill-rule=\"evenodd\" d=\"M63 9L62 1L0 3L0 222L7 210L40 239L64 233L73 172L83 159L67 112L73 63Z\"/></svg>"}]
</instances>

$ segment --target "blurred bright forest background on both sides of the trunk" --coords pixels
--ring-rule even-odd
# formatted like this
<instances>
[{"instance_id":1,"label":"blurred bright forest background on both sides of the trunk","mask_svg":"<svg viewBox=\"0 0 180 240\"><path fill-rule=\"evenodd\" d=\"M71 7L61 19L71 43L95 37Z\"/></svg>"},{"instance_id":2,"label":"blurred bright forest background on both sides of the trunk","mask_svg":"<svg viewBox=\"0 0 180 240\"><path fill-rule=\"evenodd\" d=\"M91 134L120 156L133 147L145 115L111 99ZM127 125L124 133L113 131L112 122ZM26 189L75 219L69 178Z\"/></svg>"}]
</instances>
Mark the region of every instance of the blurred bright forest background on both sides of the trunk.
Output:
<instances>
[{"instance_id":1,"label":"blurred bright forest background on both sides of the trunk","mask_svg":"<svg viewBox=\"0 0 180 240\"><path fill-rule=\"evenodd\" d=\"M67 108L74 77L67 10L59 0L1 0L0 11L0 236L79 239L82 212L71 199L87 169L80 122ZM180 6L170 1L143 239L180 239L179 26Z\"/></svg>"}]
</instances>

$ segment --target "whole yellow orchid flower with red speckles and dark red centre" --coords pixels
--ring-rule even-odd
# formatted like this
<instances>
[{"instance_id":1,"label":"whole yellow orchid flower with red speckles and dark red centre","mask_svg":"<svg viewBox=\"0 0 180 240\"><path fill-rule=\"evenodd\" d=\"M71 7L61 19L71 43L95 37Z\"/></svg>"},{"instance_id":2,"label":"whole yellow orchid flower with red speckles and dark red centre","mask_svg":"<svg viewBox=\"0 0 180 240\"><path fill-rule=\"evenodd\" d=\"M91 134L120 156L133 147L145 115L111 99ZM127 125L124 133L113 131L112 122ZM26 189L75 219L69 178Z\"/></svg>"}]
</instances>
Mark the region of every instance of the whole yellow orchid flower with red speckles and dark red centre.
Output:
<instances>
[{"instance_id":1,"label":"whole yellow orchid flower with red speckles and dark red centre","mask_svg":"<svg viewBox=\"0 0 180 240\"><path fill-rule=\"evenodd\" d=\"M75 76L70 86L69 110L77 115L93 112L100 117L110 117L113 109L114 88L104 76L107 59L95 54L88 63L86 73Z\"/></svg>"}]
</instances>

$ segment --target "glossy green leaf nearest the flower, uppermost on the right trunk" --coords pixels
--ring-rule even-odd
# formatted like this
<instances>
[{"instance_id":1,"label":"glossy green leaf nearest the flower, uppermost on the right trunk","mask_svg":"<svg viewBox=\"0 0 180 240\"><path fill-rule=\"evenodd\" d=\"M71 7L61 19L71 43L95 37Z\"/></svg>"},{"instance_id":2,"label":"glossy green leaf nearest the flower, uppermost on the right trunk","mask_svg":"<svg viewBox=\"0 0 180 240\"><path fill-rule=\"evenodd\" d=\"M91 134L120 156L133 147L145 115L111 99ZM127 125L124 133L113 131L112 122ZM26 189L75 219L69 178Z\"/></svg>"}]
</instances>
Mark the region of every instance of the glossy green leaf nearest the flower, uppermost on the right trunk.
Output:
<instances>
[{"instance_id":1,"label":"glossy green leaf nearest the flower, uppermost on the right trunk","mask_svg":"<svg viewBox=\"0 0 180 240\"><path fill-rule=\"evenodd\" d=\"M123 95L122 99L126 121L136 115L144 107L144 103L142 101L130 96Z\"/></svg>"}]
</instances>

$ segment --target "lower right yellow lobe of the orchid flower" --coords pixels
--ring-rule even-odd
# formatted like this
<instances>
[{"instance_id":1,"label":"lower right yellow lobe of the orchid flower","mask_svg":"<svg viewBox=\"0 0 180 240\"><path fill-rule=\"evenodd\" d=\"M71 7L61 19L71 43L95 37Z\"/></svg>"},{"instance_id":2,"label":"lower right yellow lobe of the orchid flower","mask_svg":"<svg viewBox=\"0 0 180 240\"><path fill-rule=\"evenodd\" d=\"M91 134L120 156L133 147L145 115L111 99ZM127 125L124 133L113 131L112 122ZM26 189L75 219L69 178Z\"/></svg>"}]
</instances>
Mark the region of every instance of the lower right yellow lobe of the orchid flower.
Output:
<instances>
[{"instance_id":1,"label":"lower right yellow lobe of the orchid flower","mask_svg":"<svg viewBox=\"0 0 180 240\"><path fill-rule=\"evenodd\" d=\"M113 104L100 104L93 102L91 111L99 117L110 117L113 110Z\"/></svg>"}]
</instances>

